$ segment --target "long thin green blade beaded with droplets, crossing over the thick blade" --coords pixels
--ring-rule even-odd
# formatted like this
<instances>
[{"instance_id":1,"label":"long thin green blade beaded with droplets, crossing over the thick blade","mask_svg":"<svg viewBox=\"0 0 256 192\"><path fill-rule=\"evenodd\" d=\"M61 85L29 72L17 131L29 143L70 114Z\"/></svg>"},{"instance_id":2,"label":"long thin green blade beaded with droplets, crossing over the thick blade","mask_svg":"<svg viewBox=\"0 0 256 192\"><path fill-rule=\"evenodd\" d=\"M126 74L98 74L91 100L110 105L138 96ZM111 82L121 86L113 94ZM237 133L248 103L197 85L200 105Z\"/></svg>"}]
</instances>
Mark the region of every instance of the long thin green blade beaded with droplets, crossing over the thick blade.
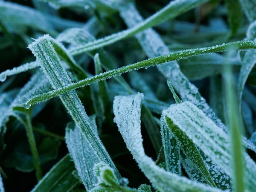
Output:
<instances>
[{"instance_id":1,"label":"long thin green blade beaded with droplets, crossing over the thick blade","mask_svg":"<svg viewBox=\"0 0 256 192\"><path fill-rule=\"evenodd\" d=\"M155 58L151 58L151 59L148 59L148 60L137 62L135 64L120 67L120 68L115 69L115 70L107 71L107 72L102 73L100 75L93 76L93 77L81 80L77 83L67 85L63 88L58 88L57 90L54 90L54 91L49 92L49 93L44 93L41 96L37 96L37 97L34 97L33 99L29 100L27 102L27 104L34 105L36 103L43 102L47 99L51 99L55 96L58 96L59 94L65 93L67 91L74 90L74 89L79 88L79 87L84 87L84 86L86 86L88 84L91 84L91 83L95 83L95 82L98 82L98 81L109 79L113 76L118 76L118 75L121 75L122 73L127 73L131 70L137 70L137 69L140 69L140 68L147 68L147 67L152 67L152 66L155 66L155 65L166 64L166 63L171 62L171 61L176 61L180 58L188 58L188 57L192 57L192 56L195 56L195 55L201 55L201 54L206 54L206 53L211 53L211 52L222 52L222 51L226 51L227 48L230 47L230 46L232 46L232 47L237 46L236 49L255 49L256 48L256 43L254 41L237 41L237 42L229 43L229 44L216 45L215 47L206 47L206 48L200 48L200 49L188 49L188 50L184 50L184 51L180 51L180 52L173 52L173 53L170 53L170 54L167 54L167 55L161 55L161 56L158 56L158 57L155 57ZM189 94L192 94L192 93L189 93ZM199 94L199 92L198 92L198 94ZM188 97L188 96L186 96L186 97ZM201 101L201 102L203 102L203 101ZM200 104L198 104L198 105L200 105ZM207 105L207 104L205 103L205 105ZM209 108L209 106L208 106L208 108ZM210 110L210 111L212 111L212 110ZM218 122L217 119L215 119L215 121Z\"/></svg>"}]
</instances>

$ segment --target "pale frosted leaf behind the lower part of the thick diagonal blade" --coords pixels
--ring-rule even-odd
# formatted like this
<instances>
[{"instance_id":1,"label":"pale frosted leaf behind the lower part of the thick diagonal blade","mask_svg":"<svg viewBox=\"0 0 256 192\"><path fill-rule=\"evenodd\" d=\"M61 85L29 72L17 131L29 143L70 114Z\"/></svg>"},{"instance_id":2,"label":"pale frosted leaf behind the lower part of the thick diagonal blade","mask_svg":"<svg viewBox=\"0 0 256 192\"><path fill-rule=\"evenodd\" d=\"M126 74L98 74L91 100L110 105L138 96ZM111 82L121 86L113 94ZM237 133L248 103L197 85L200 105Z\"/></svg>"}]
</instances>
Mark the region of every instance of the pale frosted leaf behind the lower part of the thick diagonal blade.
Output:
<instances>
[{"instance_id":1,"label":"pale frosted leaf behind the lower part of the thick diagonal blade","mask_svg":"<svg viewBox=\"0 0 256 192\"><path fill-rule=\"evenodd\" d=\"M88 191L98 182L93 174L93 166L100 162L99 157L94 153L90 143L74 123L67 124L65 138L78 175Z\"/></svg>"}]
</instances>

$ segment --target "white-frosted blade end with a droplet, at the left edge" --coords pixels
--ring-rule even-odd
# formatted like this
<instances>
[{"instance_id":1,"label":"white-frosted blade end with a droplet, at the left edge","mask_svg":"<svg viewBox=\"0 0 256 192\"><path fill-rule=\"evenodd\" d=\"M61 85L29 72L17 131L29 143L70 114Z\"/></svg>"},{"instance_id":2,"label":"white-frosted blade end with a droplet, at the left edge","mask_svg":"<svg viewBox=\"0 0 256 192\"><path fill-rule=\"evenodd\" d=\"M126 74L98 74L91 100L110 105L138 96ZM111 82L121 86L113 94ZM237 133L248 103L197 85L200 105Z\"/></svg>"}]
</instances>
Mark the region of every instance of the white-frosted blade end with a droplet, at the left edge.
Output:
<instances>
[{"instance_id":1,"label":"white-frosted blade end with a droplet, at the left edge","mask_svg":"<svg viewBox=\"0 0 256 192\"><path fill-rule=\"evenodd\" d=\"M37 61L33 61L30 63L22 64L19 67L14 67L12 70L6 70L2 73L0 73L0 81L5 81L7 77L16 75L18 73L25 72L27 70L34 69L35 67L39 67L39 64Z\"/></svg>"}]
</instances>

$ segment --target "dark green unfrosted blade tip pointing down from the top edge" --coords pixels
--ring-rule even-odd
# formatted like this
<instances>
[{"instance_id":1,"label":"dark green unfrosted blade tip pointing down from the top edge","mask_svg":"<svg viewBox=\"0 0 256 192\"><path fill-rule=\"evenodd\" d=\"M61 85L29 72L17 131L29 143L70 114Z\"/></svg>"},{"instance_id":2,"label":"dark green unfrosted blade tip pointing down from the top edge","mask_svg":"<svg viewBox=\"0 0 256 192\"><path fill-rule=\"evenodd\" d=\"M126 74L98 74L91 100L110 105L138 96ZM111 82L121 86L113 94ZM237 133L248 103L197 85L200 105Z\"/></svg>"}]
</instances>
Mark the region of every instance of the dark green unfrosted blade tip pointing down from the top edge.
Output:
<instances>
[{"instance_id":1,"label":"dark green unfrosted blade tip pointing down from the top edge","mask_svg":"<svg viewBox=\"0 0 256 192\"><path fill-rule=\"evenodd\" d=\"M242 10L239 0L225 0L228 21L232 35L236 34L242 22Z\"/></svg>"}]
</instances>

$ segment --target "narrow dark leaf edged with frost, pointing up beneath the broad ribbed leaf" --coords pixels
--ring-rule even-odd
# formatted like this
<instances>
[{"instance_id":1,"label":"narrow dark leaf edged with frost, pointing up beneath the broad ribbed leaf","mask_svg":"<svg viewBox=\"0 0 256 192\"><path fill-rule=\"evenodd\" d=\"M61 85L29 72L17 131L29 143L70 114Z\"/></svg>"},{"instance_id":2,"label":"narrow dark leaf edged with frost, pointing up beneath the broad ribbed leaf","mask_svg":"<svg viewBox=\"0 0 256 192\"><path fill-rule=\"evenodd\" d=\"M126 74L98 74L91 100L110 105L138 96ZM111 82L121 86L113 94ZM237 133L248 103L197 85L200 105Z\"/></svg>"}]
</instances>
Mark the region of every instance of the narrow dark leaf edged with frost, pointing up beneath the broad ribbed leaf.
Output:
<instances>
[{"instance_id":1,"label":"narrow dark leaf edged with frost, pointing up beneath the broad ribbed leaf","mask_svg":"<svg viewBox=\"0 0 256 192\"><path fill-rule=\"evenodd\" d=\"M163 116L161 117L161 135L166 160L166 170L181 175L180 143L174 137Z\"/></svg>"}]
</instances>

